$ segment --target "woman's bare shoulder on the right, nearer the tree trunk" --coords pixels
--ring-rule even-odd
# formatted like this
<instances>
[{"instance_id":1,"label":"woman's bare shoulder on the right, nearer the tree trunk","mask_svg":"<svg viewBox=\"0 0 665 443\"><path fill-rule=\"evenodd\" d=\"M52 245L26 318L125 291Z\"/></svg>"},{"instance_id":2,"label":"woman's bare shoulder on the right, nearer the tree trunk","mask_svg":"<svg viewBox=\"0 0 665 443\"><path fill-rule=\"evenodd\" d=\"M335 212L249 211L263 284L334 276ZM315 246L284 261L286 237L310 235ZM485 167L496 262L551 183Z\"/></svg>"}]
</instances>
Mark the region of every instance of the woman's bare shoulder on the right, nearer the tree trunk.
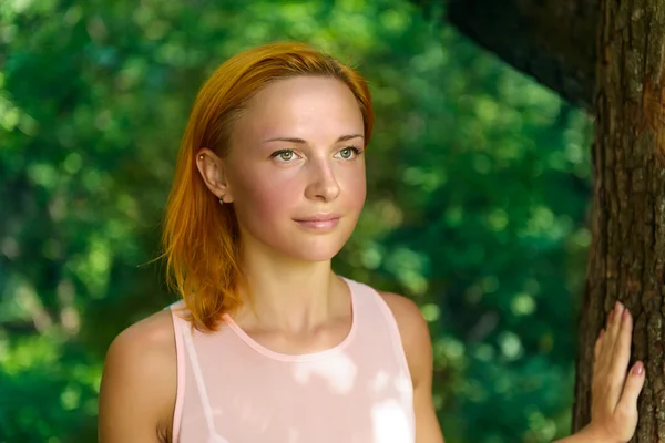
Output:
<instances>
[{"instance_id":1,"label":"woman's bare shoulder on the right, nearer the tree trunk","mask_svg":"<svg viewBox=\"0 0 665 443\"><path fill-rule=\"evenodd\" d=\"M397 321L411 378L417 384L432 370L432 346L427 321L413 300L392 292L379 293Z\"/></svg>"}]
</instances>

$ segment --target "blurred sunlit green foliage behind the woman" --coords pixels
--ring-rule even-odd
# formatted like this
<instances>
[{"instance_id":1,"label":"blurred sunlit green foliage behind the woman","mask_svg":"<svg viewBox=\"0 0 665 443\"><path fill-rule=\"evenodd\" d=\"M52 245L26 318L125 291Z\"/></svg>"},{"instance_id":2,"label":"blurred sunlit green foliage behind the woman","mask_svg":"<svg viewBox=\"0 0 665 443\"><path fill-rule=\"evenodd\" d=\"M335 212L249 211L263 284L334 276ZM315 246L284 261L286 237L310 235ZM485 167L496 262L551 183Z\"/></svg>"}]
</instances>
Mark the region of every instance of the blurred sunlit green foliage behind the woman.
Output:
<instances>
[{"instance_id":1,"label":"blurred sunlit green foliage behind the woman","mask_svg":"<svg viewBox=\"0 0 665 443\"><path fill-rule=\"evenodd\" d=\"M173 301L160 223L190 106L232 54L360 69L368 202L336 258L429 320L449 442L567 434L590 244L581 111L406 0L0 2L0 442L91 442L103 357Z\"/></svg>"}]
</instances>

